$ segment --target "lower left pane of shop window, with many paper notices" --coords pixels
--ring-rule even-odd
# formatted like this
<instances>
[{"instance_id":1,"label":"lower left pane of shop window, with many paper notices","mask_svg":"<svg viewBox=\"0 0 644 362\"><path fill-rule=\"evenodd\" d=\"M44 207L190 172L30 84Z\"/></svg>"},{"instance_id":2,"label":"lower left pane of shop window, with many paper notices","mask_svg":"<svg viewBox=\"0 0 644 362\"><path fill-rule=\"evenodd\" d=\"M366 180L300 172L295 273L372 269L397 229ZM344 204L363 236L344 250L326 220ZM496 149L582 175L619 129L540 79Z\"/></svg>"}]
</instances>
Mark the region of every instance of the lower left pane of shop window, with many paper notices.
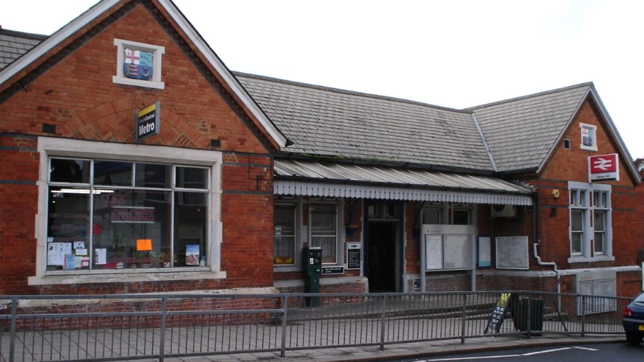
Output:
<instances>
[{"instance_id":1,"label":"lower left pane of shop window, with many paper notices","mask_svg":"<svg viewBox=\"0 0 644 362\"><path fill-rule=\"evenodd\" d=\"M90 190L49 187L47 270L90 269Z\"/></svg>"}]
</instances>

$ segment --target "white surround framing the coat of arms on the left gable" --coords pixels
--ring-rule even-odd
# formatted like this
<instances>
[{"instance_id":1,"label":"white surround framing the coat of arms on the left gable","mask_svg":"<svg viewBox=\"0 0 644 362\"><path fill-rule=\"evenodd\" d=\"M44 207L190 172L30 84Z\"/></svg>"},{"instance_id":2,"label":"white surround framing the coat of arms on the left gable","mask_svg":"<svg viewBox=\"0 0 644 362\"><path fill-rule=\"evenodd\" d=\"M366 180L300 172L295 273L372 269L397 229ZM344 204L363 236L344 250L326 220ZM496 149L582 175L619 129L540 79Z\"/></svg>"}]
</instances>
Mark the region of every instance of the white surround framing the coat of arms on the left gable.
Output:
<instances>
[{"instance_id":1,"label":"white surround framing the coat of arms on the left gable","mask_svg":"<svg viewBox=\"0 0 644 362\"><path fill-rule=\"evenodd\" d=\"M166 53L164 46L153 44L138 43L136 41L128 41L124 39L114 39L114 45L117 47L117 74L112 76L112 82L117 84L126 84L128 86L138 86L144 88L155 88L162 90L166 88L166 84L161 81L161 66L162 55ZM144 81L142 79L131 79L123 74L123 61L125 58L124 49L130 48L133 50L144 50L152 52L152 79Z\"/></svg>"}]
</instances>

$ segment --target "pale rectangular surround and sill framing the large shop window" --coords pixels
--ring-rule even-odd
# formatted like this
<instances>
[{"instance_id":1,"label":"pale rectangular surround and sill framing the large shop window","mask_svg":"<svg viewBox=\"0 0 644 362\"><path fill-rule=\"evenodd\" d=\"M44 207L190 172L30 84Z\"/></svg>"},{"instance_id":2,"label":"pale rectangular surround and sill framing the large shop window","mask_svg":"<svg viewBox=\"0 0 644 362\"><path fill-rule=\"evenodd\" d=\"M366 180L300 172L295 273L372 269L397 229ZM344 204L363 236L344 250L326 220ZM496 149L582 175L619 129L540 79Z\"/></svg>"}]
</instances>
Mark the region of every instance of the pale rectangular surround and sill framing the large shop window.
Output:
<instances>
[{"instance_id":1,"label":"pale rectangular surround and sill framing the large shop window","mask_svg":"<svg viewBox=\"0 0 644 362\"><path fill-rule=\"evenodd\" d=\"M117 144L73 140L68 138L38 138L40 173L38 186L38 214L35 236L37 239L35 276L30 276L29 285L55 285L77 283L131 283L139 281L176 281L226 278L221 270L221 175L222 153L201 149L180 149L166 146ZM211 256L208 267L182 267L160 269L99 269L95 271L46 271L48 167L50 157L100 158L104 160L131 160L135 162L160 162L205 166L210 168L211 193L210 227L207 233L207 250Z\"/></svg>"}]
</instances>

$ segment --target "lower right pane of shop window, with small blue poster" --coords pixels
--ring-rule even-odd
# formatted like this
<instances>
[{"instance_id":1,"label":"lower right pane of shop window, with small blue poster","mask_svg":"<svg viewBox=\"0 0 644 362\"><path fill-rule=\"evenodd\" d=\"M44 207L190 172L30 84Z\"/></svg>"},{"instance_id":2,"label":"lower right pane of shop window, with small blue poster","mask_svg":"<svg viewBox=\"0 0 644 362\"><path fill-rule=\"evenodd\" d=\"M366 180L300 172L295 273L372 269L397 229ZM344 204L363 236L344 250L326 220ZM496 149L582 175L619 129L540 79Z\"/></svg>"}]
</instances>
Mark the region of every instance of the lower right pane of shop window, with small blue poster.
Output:
<instances>
[{"instance_id":1,"label":"lower right pane of shop window, with small blue poster","mask_svg":"<svg viewBox=\"0 0 644 362\"><path fill-rule=\"evenodd\" d=\"M206 266L208 193L175 191L175 267Z\"/></svg>"}]
</instances>

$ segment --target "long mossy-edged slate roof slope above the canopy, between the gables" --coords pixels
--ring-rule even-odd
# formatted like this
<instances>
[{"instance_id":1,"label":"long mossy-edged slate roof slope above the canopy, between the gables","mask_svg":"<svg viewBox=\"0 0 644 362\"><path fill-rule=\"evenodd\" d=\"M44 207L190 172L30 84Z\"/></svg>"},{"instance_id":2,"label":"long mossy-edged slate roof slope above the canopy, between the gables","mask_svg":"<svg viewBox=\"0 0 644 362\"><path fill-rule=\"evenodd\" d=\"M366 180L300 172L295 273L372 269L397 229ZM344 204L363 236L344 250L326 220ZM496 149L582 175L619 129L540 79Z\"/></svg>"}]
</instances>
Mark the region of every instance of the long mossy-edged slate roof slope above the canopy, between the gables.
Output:
<instances>
[{"instance_id":1,"label":"long mossy-edged slate roof slope above the canopy, between the gables","mask_svg":"<svg viewBox=\"0 0 644 362\"><path fill-rule=\"evenodd\" d=\"M493 171L471 112L234 73L289 153Z\"/></svg>"}]
</instances>

